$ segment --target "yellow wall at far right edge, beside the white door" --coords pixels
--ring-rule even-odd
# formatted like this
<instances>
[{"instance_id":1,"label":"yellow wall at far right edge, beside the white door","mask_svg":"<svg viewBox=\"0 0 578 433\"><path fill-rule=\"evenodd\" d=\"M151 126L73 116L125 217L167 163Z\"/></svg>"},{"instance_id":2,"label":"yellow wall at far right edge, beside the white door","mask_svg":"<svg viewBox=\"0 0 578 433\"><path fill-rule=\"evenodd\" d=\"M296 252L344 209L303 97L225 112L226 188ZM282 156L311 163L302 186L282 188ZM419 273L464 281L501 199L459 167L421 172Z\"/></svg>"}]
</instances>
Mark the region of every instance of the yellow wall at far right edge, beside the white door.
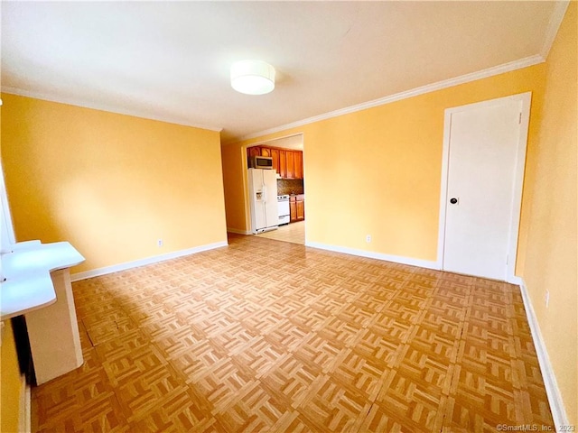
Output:
<instances>
[{"instance_id":1,"label":"yellow wall at far right edge, beside the white door","mask_svg":"<svg viewBox=\"0 0 578 433\"><path fill-rule=\"evenodd\" d=\"M577 9L576 2L568 7L546 61L535 176L528 185L533 189L533 199L523 272L565 409L574 426L578 426ZM550 293L547 309L546 290Z\"/></svg>"}]
</instances>

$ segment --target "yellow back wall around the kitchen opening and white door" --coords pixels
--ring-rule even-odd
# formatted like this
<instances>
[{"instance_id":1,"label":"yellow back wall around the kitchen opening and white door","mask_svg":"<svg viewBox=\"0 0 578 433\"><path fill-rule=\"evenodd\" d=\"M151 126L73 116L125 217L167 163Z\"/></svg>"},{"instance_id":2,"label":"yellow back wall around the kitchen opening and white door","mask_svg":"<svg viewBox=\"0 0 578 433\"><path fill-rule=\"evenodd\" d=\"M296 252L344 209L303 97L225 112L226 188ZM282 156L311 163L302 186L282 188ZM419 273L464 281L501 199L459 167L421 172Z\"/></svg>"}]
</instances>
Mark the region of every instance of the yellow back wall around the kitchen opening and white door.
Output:
<instances>
[{"instance_id":1,"label":"yellow back wall around the kitchen opening and white door","mask_svg":"<svg viewBox=\"0 0 578 433\"><path fill-rule=\"evenodd\" d=\"M527 158L534 157L545 65L500 74L223 145L228 227L249 229L243 148L303 132L308 242L434 262L442 173L443 111L533 92ZM523 207L527 207L526 191ZM523 212L520 231L527 230ZM365 236L372 235L371 244ZM523 255L523 251L520 251ZM523 262L523 261L522 261ZM518 262L519 263L519 262Z\"/></svg>"}]
</instances>

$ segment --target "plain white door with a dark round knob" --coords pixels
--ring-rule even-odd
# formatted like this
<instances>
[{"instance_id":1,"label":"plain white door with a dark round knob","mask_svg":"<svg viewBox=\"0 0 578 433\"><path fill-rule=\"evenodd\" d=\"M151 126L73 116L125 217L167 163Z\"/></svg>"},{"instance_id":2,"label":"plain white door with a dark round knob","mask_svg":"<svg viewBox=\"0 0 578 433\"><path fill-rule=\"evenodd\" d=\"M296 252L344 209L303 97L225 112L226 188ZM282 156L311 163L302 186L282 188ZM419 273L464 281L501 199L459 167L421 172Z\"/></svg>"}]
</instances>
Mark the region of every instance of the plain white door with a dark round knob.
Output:
<instances>
[{"instance_id":1,"label":"plain white door with a dark round knob","mask_svg":"<svg viewBox=\"0 0 578 433\"><path fill-rule=\"evenodd\" d=\"M444 271L513 277L529 99L523 94L446 110Z\"/></svg>"}]
</instances>

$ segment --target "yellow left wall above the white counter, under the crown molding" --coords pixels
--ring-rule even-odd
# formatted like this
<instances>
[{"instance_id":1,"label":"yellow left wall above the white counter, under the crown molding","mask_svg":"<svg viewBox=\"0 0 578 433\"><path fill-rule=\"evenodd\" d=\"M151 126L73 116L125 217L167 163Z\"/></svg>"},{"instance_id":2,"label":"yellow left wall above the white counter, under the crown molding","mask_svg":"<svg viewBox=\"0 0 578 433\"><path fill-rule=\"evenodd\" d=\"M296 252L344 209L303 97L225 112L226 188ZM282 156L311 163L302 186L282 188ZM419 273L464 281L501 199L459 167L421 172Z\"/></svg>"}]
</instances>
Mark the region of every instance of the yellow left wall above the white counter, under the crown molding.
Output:
<instances>
[{"instance_id":1,"label":"yellow left wall above the white counter, under the crown molding","mask_svg":"<svg viewBox=\"0 0 578 433\"><path fill-rule=\"evenodd\" d=\"M3 101L17 241L69 241L87 259L73 272L227 241L219 133L29 97Z\"/></svg>"}]
</instances>

